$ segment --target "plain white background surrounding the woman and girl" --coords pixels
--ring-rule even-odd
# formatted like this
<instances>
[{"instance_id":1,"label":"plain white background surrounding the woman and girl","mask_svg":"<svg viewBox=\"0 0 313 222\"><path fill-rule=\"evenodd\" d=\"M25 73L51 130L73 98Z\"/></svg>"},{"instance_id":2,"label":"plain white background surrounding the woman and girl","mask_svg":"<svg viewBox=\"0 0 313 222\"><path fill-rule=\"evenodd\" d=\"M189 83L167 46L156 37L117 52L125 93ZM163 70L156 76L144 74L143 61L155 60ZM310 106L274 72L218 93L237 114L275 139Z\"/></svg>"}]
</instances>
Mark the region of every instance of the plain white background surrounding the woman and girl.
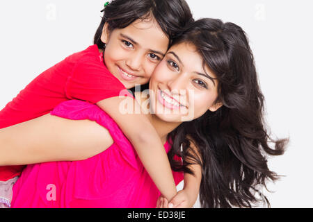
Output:
<instances>
[{"instance_id":1,"label":"plain white background surrounding the woman and girl","mask_svg":"<svg viewBox=\"0 0 313 222\"><path fill-rule=\"evenodd\" d=\"M268 188L272 207L313 207L312 1L187 1L196 19L241 26L255 54L273 136L290 137L271 157L285 175ZM0 1L0 109L42 71L93 44L104 1ZM195 205L198 207L198 203Z\"/></svg>"}]
</instances>

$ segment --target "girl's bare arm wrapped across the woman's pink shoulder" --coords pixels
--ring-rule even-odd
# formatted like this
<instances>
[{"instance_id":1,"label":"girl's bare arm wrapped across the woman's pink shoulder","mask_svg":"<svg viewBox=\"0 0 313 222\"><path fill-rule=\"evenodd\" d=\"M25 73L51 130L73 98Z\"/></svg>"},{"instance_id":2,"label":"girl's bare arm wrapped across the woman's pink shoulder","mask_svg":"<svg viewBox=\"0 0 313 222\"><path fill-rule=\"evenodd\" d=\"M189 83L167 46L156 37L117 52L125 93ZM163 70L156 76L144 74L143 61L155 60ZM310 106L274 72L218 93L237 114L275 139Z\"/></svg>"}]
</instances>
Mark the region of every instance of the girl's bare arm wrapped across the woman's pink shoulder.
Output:
<instances>
[{"instance_id":1,"label":"girl's bare arm wrapped across the woman's pink shoulder","mask_svg":"<svg viewBox=\"0 0 313 222\"><path fill-rule=\"evenodd\" d=\"M132 113L122 114L123 104L132 105ZM113 97L97 103L120 126L138 157L141 159L147 173L168 200L177 194L175 181L172 176L170 162L157 131L144 114L136 114L141 106L130 97Z\"/></svg>"}]
</instances>

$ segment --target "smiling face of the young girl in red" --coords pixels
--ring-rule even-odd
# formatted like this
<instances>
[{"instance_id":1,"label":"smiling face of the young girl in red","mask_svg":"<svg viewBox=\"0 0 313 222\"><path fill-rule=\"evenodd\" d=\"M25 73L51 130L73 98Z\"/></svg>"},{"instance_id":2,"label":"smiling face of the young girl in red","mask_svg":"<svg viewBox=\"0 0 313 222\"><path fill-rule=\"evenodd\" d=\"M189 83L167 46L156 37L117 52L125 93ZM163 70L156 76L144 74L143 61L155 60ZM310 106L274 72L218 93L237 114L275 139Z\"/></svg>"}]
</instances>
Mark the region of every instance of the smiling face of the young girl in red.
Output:
<instances>
[{"instance_id":1,"label":"smiling face of the young girl in red","mask_svg":"<svg viewBox=\"0 0 313 222\"><path fill-rule=\"evenodd\" d=\"M155 19L138 19L111 32L105 24L101 40L106 43L106 67L127 89L149 82L169 44Z\"/></svg>"}]
</instances>

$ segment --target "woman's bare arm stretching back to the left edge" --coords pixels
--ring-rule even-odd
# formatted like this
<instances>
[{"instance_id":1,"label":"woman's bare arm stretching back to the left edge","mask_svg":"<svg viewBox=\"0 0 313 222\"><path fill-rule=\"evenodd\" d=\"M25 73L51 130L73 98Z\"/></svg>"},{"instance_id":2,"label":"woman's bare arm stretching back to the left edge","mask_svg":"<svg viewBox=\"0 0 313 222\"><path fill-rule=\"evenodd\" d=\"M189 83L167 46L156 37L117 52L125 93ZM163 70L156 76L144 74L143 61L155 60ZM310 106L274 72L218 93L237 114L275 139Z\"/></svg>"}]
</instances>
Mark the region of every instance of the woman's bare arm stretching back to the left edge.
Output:
<instances>
[{"instance_id":1,"label":"woman's bare arm stretching back to the left edge","mask_svg":"<svg viewBox=\"0 0 313 222\"><path fill-rule=\"evenodd\" d=\"M0 166L86 160L113 139L94 121L45 116L0 130Z\"/></svg>"}]
</instances>

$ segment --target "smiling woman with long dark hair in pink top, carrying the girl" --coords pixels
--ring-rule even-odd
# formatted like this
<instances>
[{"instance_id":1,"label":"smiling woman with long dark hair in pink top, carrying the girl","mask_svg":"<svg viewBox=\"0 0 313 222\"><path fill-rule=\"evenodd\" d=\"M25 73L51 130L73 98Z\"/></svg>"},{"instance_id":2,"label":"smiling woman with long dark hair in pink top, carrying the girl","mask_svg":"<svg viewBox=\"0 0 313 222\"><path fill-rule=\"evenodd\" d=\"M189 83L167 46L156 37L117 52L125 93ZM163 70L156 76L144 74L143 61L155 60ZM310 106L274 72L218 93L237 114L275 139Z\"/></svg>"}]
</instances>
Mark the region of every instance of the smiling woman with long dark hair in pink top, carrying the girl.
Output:
<instances>
[{"instance_id":1,"label":"smiling woman with long dark hair in pink top, carrying the girl","mask_svg":"<svg viewBox=\"0 0 313 222\"><path fill-rule=\"evenodd\" d=\"M149 98L155 113L149 115L150 121L162 141L168 141L166 150L172 169L184 171L184 189L173 198L174 207L191 207L199 190L202 207L251 207L261 201L255 192L266 185L267 179L277 179L268 169L266 155L282 154L287 140L274 141L266 133L264 97L243 30L218 19L200 19L191 24L155 69L150 90L157 94ZM189 92L193 92L193 101ZM166 103L168 98L181 101L179 105L188 112L192 111L193 103L193 121L182 122L186 115L182 112L159 112L172 110ZM136 152L129 148L122 133L116 133L117 125L102 110L82 101L67 101L51 114L58 117L48 114L2 130L0 142L6 138L9 146L1 142L1 155L9 152L8 147L18 151L19 156L9 160L15 164L17 159L29 161L23 159L24 153L30 151L46 150L51 154L56 137L61 148L51 156L62 156L69 146L80 151L86 144L92 144L88 151L95 153L94 140L100 141L105 151L78 162L29 165L14 187L13 207L153 207L157 204L157 188L142 170ZM103 139L104 129L97 123L59 117L97 121L111 135L106 133L108 137ZM71 133L65 136L67 131ZM22 138L26 151L15 137ZM112 143L111 137L114 142L108 145ZM268 142L273 142L275 149ZM119 155L112 155L115 152ZM53 161L54 157L47 158L47 153L35 153L35 161ZM183 164L176 155L183 158ZM108 158L111 156L115 159ZM48 169L49 174L45 173ZM179 174L175 179L182 180ZM50 191L47 185L55 185L53 201L51 196L47 199ZM159 207L167 207L166 200L163 204L161 200ZM262 200L268 202L265 197Z\"/></svg>"}]
</instances>

